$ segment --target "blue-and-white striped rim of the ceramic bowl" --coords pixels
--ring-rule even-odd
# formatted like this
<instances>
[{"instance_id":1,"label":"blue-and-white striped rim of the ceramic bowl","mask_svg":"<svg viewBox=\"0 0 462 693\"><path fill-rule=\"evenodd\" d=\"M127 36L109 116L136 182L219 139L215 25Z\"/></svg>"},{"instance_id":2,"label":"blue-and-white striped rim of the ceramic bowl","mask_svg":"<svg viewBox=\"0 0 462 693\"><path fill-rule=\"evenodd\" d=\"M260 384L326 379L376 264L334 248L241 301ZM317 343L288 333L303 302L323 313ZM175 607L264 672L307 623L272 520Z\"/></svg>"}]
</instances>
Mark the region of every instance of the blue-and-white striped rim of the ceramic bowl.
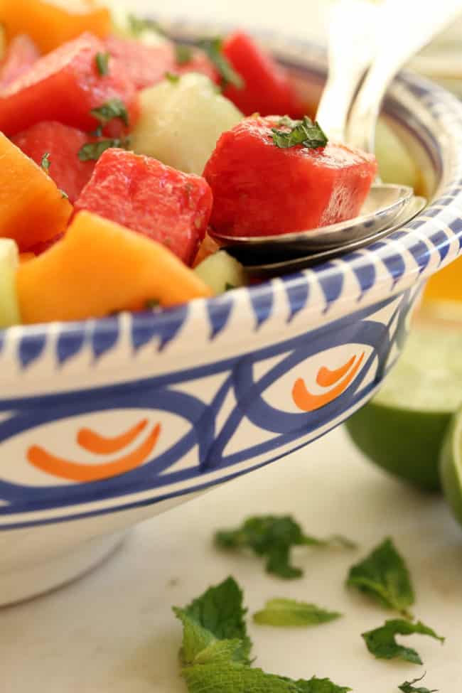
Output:
<instances>
[{"instance_id":1,"label":"blue-and-white striped rim of the ceramic bowl","mask_svg":"<svg viewBox=\"0 0 462 693\"><path fill-rule=\"evenodd\" d=\"M185 23L175 23L174 26L181 31ZM192 28L197 35L195 26L188 23L188 31ZM319 71L319 65L325 63L324 49L311 42L269 32L255 32L255 36L261 36L278 58L301 72L316 72L316 63ZM414 123L409 124L409 129L413 131L412 127L421 123L419 118L427 117L427 129L434 139L435 151L441 157L448 155L444 162L444 179L436 197L412 222L360 251L345 254L317 267L269 279L256 286L234 289L211 299L195 299L182 306L157 308L144 313L120 313L107 318L14 326L0 330L0 362L4 360L4 352L7 358L13 352L22 366L28 367L41 355L51 336L55 341L57 335L64 340L84 340L95 326L107 343L115 343L122 328L130 331L136 328L158 338L159 333L168 330L173 323L181 327L186 319L192 318L212 339L225 327L223 311L227 311L229 317L235 305L240 306L241 310L252 311L259 328L269 318L278 318L278 311L272 310L272 301L274 294L281 289L284 289L289 302L292 299L297 302L296 309L291 306L291 316L303 311L310 321L318 324L320 320L326 321L327 313L330 320L353 312L359 301L365 306L404 291L451 262L462 252L462 103L443 87L410 72L398 75L392 92L397 104L405 97L414 97L421 104L421 113ZM436 168L439 166L438 163L434 165ZM214 324L217 312L222 321L219 330ZM275 322L277 329L280 318ZM180 334L181 329L176 329L171 339L178 338ZM163 350L171 339L163 340L158 350ZM14 343L13 350L4 349L9 342ZM27 344L26 358L21 357L24 343ZM136 350L131 344L130 350L134 348ZM194 348L195 345L190 345L189 350ZM57 360L62 362L59 355Z\"/></svg>"}]
</instances>

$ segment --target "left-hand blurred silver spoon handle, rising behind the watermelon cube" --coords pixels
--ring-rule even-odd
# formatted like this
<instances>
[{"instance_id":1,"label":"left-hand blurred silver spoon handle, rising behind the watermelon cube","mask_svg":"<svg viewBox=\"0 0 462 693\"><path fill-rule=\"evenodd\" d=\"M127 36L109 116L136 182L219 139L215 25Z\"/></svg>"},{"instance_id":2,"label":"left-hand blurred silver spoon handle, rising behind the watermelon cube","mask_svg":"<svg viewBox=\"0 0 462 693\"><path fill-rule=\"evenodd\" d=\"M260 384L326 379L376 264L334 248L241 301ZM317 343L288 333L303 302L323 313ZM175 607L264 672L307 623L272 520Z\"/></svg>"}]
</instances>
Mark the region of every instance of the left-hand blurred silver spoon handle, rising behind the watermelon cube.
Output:
<instances>
[{"instance_id":1,"label":"left-hand blurred silver spoon handle, rising behind the watermelon cube","mask_svg":"<svg viewBox=\"0 0 462 693\"><path fill-rule=\"evenodd\" d=\"M353 98L374 56L376 16L370 0L339 0L329 17L328 80L316 119L335 141L345 141Z\"/></svg>"}]
</instances>

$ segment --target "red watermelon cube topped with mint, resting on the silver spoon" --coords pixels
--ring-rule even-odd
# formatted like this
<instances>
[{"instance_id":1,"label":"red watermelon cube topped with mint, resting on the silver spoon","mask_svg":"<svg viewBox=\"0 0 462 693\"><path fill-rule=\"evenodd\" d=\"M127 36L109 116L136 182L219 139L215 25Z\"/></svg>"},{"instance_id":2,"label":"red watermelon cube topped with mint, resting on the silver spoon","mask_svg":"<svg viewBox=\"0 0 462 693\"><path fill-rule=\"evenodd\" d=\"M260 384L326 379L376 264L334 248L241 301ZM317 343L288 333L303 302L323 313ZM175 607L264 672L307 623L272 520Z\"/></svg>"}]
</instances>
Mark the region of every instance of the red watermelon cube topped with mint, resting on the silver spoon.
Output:
<instances>
[{"instance_id":1,"label":"red watermelon cube topped with mint, resting on the silver spoon","mask_svg":"<svg viewBox=\"0 0 462 693\"><path fill-rule=\"evenodd\" d=\"M374 156L335 142L279 149L272 139L272 128L284 129L279 122L247 118L218 140L204 171L215 230L264 236L358 215L377 171Z\"/></svg>"}]
</instances>

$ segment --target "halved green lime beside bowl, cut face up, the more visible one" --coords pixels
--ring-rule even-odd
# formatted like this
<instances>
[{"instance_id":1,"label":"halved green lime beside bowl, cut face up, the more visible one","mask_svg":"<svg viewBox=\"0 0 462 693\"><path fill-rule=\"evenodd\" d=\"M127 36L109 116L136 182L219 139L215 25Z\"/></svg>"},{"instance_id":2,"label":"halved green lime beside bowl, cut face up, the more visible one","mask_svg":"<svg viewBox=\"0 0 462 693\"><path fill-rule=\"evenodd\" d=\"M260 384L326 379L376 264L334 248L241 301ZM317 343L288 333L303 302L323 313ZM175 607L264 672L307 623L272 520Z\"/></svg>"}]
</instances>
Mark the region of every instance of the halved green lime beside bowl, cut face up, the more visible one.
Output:
<instances>
[{"instance_id":1,"label":"halved green lime beside bowl, cut face up, the more visible one","mask_svg":"<svg viewBox=\"0 0 462 693\"><path fill-rule=\"evenodd\" d=\"M441 444L461 404L462 329L434 321L414 326L382 390L346 427L378 466L437 490Z\"/></svg>"}]
</instances>

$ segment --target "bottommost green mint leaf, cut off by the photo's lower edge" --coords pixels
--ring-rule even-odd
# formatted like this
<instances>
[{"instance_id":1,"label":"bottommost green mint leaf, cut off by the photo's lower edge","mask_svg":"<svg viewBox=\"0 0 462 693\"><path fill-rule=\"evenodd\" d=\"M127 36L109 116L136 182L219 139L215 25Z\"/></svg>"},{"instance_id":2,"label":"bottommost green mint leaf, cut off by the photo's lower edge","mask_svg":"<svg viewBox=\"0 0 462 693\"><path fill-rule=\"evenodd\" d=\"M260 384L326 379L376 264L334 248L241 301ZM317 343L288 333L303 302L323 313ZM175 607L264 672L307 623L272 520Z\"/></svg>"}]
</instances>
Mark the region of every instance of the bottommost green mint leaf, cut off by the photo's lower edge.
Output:
<instances>
[{"instance_id":1,"label":"bottommost green mint leaf, cut off by the photo's lower edge","mask_svg":"<svg viewBox=\"0 0 462 693\"><path fill-rule=\"evenodd\" d=\"M261 669L230 662L210 662L183 669L190 693L348 693L348 687L337 686L330 679L313 677L294 681L266 674Z\"/></svg>"}]
</instances>

